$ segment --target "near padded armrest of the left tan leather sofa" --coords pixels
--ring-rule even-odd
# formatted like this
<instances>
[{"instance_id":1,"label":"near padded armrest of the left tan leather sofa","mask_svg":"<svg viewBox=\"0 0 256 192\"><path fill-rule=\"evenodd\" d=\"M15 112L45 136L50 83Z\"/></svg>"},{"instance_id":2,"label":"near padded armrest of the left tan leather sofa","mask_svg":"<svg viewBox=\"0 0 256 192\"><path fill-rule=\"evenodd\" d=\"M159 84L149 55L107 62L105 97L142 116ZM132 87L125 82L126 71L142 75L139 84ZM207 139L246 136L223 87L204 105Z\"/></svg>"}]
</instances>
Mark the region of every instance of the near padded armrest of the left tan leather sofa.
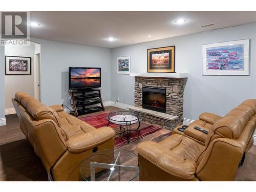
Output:
<instances>
[{"instance_id":1,"label":"near padded armrest of the left tan leather sofa","mask_svg":"<svg viewBox=\"0 0 256 192\"><path fill-rule=\"evenodd\" d=\"M67 140L68 151L81 153L96 147L115 136L115 131L108 126L100 127L97 130L75 135Z\"/></svg>"}]
</instances>

